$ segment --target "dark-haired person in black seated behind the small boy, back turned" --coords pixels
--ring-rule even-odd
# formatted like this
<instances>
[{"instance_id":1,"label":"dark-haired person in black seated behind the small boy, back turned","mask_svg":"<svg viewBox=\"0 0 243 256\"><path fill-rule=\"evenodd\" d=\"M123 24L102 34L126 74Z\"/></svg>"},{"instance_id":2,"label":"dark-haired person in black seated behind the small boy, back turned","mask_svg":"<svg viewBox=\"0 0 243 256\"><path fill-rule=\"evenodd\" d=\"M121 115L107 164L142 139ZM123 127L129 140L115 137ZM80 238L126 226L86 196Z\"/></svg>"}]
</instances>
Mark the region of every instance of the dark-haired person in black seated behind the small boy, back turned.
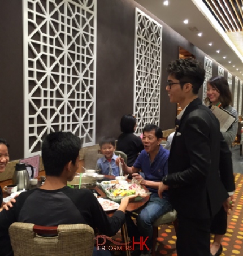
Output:
<instances>
[{"instance_id":1,"label":"dark-haired person in black seated behind the small boy, back turned","mask_svg":"<svg viewBox=\"0 0 243 256\"><path fill-rule=\"evenodd\" d=\"M144 149L142 140L133 133L137 127L136 118L133 115L124 115L120 121L120 129L123 132L116 142L116 150L127 154L127 166L133 166L138 154Z\"/></svg>"}]
</instances>

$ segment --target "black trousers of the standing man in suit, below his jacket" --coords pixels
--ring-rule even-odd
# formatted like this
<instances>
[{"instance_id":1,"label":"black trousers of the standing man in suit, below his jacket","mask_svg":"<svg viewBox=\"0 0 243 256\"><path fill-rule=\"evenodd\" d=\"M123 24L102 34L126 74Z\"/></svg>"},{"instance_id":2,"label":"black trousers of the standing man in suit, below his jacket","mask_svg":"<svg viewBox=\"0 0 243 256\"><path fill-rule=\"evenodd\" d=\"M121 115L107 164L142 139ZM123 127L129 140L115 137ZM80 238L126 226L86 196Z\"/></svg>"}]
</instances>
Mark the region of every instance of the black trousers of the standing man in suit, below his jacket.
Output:
<instances>
[{"instance_id":1,"label":"black trousers of the standing man in suit, below his jacket","mask_svg":"<svg viewBox=\"0 0 243 256\"><path fill-rule=\"evenodd\" d=\"M177 214L178 256L210 256L210 219L192 219Z\"/></svg>"}]
</instances>

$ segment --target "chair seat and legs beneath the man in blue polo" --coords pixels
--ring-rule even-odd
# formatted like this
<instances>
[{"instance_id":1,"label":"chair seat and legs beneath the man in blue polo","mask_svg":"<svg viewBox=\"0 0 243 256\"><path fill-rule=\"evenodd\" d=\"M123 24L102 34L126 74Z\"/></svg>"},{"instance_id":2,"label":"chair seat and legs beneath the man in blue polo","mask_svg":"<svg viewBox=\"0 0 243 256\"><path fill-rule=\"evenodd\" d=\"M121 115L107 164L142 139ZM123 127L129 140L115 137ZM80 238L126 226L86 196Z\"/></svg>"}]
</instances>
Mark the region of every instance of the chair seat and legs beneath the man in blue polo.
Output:
<instances>
[{"instance_id":1,"label":"chair seat and legs beneath the man in blue polo","mask_svg":"<svg viewBox=\"0 0 243 256\"><path fill-rule=\"evenodd\" d=\"M166 214L163 214L160 216L155 222L153 223L153 246L152 246L152 256L155 256L155 248L156 248L156 241L158 237L158 227L160 225L164 224L169 224L172 223L174 224L175 227L175 232L177 232L177 212L176 210L171 210L166 212Z\"/></svg>"}]
</instances>

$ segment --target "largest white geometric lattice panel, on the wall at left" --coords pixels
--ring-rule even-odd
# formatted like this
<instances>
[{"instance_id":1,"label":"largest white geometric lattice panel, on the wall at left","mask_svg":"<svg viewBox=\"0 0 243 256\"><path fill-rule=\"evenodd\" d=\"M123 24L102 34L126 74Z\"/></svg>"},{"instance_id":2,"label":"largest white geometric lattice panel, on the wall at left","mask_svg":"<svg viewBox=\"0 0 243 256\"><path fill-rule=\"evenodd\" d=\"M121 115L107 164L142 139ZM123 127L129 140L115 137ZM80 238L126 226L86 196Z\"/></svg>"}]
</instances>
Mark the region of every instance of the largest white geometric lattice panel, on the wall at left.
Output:
<instances>
[{"instance_id":1,"label":"largest white geometric lattice panel, on the wall at left","mask_svg":"<svg viewBox=\"0 0 243 256\"><path fill-rule=\"evenodd\" d=\"M95 142L96 0L23 0L25 157L46 134Z\"/></svg>"}]
</instances>

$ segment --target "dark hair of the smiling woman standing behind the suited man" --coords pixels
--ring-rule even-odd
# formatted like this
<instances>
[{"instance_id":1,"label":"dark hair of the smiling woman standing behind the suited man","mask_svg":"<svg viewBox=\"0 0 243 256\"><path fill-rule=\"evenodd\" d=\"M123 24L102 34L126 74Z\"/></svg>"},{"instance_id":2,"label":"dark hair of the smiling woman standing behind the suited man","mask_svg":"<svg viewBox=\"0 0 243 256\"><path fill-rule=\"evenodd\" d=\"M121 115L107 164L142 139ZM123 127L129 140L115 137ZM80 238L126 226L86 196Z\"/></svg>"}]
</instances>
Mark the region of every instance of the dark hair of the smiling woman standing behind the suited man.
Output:
<instances>
[{"instance_id":1,"label":"dark hair of the smiling woman standing behind the suited man","mask_svg":"<svg viewBox=\"0 0 243 256\"><path fill-rule=\"evenodd\" d=\"M215 88L219 93L219 102L221 102L222 107L226 107L232 102L231 90L229 90L228 81L223 76L214 76L207 81L207 84L210 84L212 88ZM205 99L205 103L210 103L209 98Z\"/></svg>"}]
</instances>

